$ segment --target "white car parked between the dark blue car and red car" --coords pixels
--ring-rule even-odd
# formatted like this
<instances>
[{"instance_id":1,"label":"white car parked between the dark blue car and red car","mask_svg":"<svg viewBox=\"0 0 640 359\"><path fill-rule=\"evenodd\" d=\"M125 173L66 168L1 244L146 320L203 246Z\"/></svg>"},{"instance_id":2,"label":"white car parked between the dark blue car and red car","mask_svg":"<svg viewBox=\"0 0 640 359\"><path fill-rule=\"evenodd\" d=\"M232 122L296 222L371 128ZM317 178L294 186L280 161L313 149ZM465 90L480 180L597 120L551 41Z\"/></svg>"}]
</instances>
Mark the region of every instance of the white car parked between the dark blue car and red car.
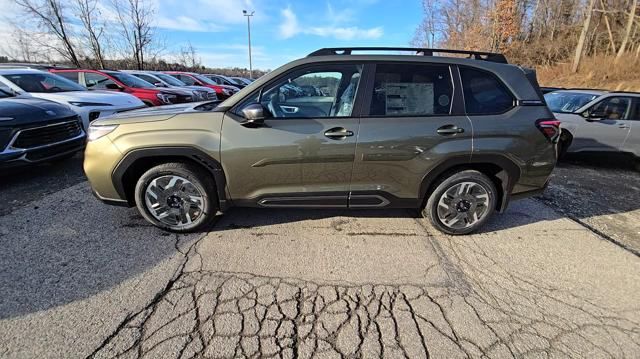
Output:
<instances>
[{"instance_id":1,"label":"white car parked between the dark blue car and red car","mask_svg":"<svg viewBox=\"0 0 640 359\"><path fill-rule=\"evenodd\" d=\"M145 107L133 95L89 91L62 76L34 69L0 69L0 88L18 96L37 97L67 105L80 115L85 129L99 117Z\"/></svg>"}]
</instances>

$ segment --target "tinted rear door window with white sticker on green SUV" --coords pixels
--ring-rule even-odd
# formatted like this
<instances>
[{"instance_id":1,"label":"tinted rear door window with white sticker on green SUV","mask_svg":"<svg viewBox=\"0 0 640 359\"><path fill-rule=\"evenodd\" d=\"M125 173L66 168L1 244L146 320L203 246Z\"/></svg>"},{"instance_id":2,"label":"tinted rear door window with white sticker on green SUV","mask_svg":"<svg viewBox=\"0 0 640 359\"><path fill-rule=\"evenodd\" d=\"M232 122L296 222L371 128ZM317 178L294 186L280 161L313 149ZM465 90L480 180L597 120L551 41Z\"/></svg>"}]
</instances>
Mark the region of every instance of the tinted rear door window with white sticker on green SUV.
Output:
<instances>
[{"instance_id":1,"label":"tinted rear door window with white sticker on green SUV","mask_svg":"<svg viewBox=\"0 0 640 359\"><path fill-rule=\"evenodd\" d=\"M372 116L448 115L453 84L445 65L377 65Z\"/></svg>"}]
</instances>

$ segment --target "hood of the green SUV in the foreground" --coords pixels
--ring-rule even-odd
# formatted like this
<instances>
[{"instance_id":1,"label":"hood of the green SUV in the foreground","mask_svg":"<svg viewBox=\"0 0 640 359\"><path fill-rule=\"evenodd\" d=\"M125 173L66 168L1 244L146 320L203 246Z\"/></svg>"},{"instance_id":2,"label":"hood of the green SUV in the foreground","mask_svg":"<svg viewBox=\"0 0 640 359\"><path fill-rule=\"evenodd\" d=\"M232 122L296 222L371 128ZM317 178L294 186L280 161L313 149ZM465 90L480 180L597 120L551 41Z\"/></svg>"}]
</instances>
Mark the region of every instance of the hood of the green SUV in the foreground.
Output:
<instances>
[{"instance_id":1,"label":"hood of the green SUV in the foreground","mask_svg":"<svg viewBox=\"0 0 640 359\"><path fill-rule=\"evenodd\" d=\"M136 122L153 122L168 120L171 117L189 111L202 111L196 109L198 106L205 104L218 104L220 101L205 101L205 102L190 102L177 105L167 106L155 106L146 107L139 110L119 112L112 116L105 118L100 117L97 121L93 122L96 125L115 125L122 123L136 123Z\"/></svg>"}]
</instances>

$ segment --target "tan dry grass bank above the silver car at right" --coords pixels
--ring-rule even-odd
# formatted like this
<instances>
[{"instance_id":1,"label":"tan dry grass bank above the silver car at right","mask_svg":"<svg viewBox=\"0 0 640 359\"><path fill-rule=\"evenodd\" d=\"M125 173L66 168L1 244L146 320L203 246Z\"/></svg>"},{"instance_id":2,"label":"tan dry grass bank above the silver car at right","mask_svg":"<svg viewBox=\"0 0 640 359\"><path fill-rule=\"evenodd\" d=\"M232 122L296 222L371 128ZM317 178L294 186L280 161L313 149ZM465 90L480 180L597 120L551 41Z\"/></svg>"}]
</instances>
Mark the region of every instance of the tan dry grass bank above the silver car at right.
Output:
<instances>
[{"instance_id":1,"label":"tan dry grass bank above the silver car at right","mask_svg":"<svg viewBox=\"0 0 640 359\"><path fill-rule=\"evenodd\" d=\"M613 56L585 58L575 74L570 63L538 67L537 73L541 86L640 92L640 59L631 55L618 63Z\"/></svg>"}]
</instances>

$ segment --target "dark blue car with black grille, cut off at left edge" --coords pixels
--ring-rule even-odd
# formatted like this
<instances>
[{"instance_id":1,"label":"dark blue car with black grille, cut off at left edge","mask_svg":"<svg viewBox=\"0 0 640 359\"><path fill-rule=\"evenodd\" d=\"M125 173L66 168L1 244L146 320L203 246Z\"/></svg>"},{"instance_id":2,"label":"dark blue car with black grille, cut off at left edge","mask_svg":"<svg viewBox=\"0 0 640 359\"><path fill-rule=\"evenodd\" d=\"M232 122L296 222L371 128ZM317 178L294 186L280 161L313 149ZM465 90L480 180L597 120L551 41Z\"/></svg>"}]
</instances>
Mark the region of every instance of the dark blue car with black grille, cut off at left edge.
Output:
<instances>
[{"instance_id":1,"label":"dark blue car with black grille, cut off at left edge","mask_svg":"<svg viewBox=\"0 0 640 359\"><path fill-rule=\"evenodd\" d=\"M0 168L66 158L85 142L82 120L68 106L0 89Z\"/></svg>"}]
</instances>

